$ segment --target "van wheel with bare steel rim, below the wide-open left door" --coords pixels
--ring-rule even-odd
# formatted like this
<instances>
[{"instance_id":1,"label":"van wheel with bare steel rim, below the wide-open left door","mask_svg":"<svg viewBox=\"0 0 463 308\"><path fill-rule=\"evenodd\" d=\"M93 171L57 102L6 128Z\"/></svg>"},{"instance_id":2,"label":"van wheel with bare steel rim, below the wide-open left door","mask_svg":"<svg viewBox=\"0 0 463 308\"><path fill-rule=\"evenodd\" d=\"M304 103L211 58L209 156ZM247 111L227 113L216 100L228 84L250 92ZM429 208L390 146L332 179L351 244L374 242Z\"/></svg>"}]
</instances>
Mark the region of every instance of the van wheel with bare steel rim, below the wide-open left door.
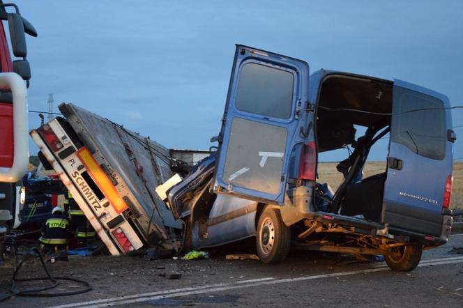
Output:
<instances>
[{"instance_id":1,"label":"van wheel with bare steel rim, below the wide-open left door","mask_svg":"<svg viewBox=\"0 0 463 308\"><path fill-rule=\"evenodd\" d=\"M281 219L280 212L266 208L257 222L257 254L264 263L283 261L289 252L291 229Z\"/></svg>"}]
</instances>

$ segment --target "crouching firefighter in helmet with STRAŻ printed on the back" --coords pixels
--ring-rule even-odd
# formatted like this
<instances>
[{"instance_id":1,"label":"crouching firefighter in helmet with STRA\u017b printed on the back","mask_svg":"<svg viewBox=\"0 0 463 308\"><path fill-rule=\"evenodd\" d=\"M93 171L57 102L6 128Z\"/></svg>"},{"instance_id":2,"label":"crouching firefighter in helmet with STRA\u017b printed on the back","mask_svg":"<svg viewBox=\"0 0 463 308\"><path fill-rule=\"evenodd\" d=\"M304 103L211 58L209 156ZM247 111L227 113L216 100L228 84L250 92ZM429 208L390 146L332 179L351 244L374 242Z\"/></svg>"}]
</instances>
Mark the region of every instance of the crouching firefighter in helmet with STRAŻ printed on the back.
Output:
<instances>
[{"instance_id":1,"label":"crouching firefighter in helmet with STRA\u017b printed on the back","mask_svg":"<svg viewBox=\"0 0 463 308\"><path fill-rule=\"evenodd\" d=\"M68 249L69 238L69 220L63 214L63 209L56 206L43 226L42 236L39 238L40 247L45 252Z\"/></svg>"}]
</instances>

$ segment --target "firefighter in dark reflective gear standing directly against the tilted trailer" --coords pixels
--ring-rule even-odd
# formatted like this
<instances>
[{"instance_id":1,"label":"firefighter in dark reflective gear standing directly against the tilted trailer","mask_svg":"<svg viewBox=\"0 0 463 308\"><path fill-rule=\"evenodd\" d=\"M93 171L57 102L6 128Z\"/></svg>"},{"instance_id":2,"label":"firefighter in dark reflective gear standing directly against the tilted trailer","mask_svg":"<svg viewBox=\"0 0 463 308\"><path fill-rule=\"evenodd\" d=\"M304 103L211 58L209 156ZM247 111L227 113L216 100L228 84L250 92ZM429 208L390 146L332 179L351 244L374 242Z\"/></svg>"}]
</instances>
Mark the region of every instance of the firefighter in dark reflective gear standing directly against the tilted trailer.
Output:
<instances>
[{"instance_id":1,"label":"firefighter in dark reflective gear standing directly against the tilted trailer","mask_svg":"<svg viewBox=\"0 0 463 308\"><path fill-rule=\"evenodd\" d=\"M68 206L71 228L77 237L79 245L86 246L87 240L95 238L95 230L93 230L89 220L86 219L84 212L79 208L70 192L68 192L64 204Z\"/></svg>"}]
</instances>

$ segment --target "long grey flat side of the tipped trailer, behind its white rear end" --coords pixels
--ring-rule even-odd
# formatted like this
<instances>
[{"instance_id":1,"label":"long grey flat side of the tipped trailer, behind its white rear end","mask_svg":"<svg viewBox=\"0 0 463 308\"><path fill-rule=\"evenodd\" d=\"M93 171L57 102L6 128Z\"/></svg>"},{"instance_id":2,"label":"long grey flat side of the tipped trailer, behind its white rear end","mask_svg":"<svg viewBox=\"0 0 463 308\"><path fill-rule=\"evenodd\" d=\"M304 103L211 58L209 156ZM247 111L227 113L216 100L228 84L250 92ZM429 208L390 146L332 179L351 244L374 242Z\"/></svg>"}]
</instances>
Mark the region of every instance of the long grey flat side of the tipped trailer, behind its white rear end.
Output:
<instances>
[{"instance_id":1,"label":"long grey flat side of the tipped trailer, behind its white rear end","mask_svg":"<svg viewBox=\"0 0 463 308\"><path fill-rule=\"evenodd\" d=\"M181 222L174 220L155 193L155 187L174 175L166 158L167 148L75 105L61 104L59 109L100 167L113 180L123 183L117 187L119 194L135 208L143 208L146 215L141 213L137 222L145 232L150 228L147 233L154 231L167 238L165 226L181 228Z\"/></svg>"}]
</instances>

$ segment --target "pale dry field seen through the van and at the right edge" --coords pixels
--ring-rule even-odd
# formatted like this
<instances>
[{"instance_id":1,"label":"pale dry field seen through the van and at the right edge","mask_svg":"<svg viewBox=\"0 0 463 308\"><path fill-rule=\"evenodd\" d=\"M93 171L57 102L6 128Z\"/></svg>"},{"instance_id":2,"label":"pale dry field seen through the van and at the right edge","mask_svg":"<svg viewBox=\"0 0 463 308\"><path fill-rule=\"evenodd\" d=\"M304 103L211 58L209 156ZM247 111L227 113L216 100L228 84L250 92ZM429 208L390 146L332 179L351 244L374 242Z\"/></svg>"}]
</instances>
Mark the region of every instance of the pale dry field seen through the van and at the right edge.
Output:
<instances>
[{"instance_id":1,"label":"pale dry field seen through the van and at the right edge","mask_svg":"<svg viewBox=\"0 0 463 308\"><path fill-rule=\"evenodd\" d=\"M380 174L386 170L386 162L367 162L363 169L364 176L372 176ZM319 182L329 183L333 190L340 185L342 174L337 172L336 163L321 162L319 164ZM453 190L452 190L452 209L463 209L463 162L455 162L453 164Z\"/></svg>"}]
</instances>

